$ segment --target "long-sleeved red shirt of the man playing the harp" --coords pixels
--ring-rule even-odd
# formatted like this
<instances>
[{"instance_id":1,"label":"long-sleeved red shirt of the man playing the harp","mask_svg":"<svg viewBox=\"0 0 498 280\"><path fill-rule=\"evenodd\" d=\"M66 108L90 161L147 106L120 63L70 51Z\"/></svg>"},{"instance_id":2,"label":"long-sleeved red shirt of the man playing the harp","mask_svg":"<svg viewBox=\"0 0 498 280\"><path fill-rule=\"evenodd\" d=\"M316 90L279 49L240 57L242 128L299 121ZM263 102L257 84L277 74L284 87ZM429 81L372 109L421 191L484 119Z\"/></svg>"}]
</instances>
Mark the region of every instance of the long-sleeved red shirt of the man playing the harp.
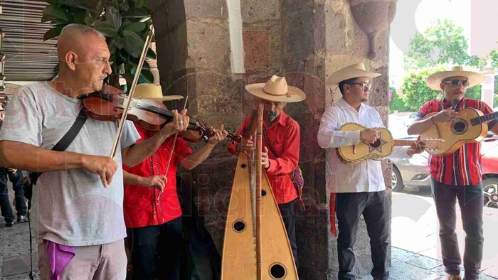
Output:
<instances>
[{"instance_id":1,"label":"long-sleeved red shirt of the man playing the harp","mask_svg":"<svg viewBox=\"0 0 498 280\"><path fill-rule=\"evenodd\" d=\"M245 127L250 129L251 118L252 115L245 117L244 123L238 129L237 134L243 135ZM299 162L300 126L284 112L280 112L280 115L270 127L268 127L264 118L263 126L265 126L273 149L279 156L277 158L268 149L268 157L270 158L270 167L266 169L268 180L270 180L277 203L290 203L297 198L295 186L288 173L295 170ZM267 146L268 144L263 136L263 147ZM237 154L235 148L235 144L228 144L228 151L231 154Z\"/></svg>"}]
</instances>

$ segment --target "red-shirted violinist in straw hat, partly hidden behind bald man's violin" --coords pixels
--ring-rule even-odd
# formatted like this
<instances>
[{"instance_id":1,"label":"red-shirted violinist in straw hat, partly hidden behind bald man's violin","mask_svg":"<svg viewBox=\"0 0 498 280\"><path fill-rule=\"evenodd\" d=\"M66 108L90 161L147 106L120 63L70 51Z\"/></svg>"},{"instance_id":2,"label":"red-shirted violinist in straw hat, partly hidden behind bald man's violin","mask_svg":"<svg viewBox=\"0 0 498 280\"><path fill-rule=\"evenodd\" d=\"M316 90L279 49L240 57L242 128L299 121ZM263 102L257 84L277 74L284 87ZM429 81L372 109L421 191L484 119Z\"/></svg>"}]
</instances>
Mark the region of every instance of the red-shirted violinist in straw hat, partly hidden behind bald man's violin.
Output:
<instances>
[{"instance_id":1,"label":"red-shirted violinist in straw hat, partly hidden behind bald man's violin","mask_svg":"<svg viewBox=\"0 0 498 280\"><path fill-rule=\"evenodd\" d=\"M159 97L154 92L159 93ZM161 99L161 87L140 84L135 95ZM141 136L139 141L149 139L154 134L154 131L136 127ZM220 129L216 129L216 135L195 152L181 136L176 139L176 144L174 136L171 136L147 160L137 166L123 166L124 222L132 243L133 279L152 279L156 252L161 257L158 269L162 279L179 279L183 225L176 194L177 166L187 170L196 167L226 135L221 125Z\"/></svg>"}]
</instances>

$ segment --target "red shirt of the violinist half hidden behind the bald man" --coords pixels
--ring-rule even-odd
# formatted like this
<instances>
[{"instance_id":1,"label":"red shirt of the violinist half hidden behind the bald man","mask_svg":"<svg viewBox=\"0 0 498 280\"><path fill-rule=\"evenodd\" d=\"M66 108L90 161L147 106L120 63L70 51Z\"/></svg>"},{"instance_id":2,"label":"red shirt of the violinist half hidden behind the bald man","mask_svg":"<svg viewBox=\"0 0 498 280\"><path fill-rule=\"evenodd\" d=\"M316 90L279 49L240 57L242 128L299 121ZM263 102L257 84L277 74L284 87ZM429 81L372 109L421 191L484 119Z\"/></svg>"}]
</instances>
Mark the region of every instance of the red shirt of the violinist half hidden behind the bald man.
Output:
<instances>
[{"instance_id":1,"label":"red shirt of the violinist half hidden behind the bald man","mask_svg":"<svg viewBox=\"0 0 498 280\"><path fill-rule=\"evenodd\" d=\"M142 136L139 141L148 139L149 131L136 126ZM168 164L169 154L173 144L174 136L164 141L153 156L133 167L123 166L125 171L142 177L164 175ZM147 227L149 225L161 225L181 216L181 208L176 194L176 166L186 157L192 154L192 150L180 136L176 139L175 153L171 157L169 170L166 178L168 183L161 193L155 188L142 187L140 185L124 185L124 223L126 227Z\"/></svg>"}]
</instances>

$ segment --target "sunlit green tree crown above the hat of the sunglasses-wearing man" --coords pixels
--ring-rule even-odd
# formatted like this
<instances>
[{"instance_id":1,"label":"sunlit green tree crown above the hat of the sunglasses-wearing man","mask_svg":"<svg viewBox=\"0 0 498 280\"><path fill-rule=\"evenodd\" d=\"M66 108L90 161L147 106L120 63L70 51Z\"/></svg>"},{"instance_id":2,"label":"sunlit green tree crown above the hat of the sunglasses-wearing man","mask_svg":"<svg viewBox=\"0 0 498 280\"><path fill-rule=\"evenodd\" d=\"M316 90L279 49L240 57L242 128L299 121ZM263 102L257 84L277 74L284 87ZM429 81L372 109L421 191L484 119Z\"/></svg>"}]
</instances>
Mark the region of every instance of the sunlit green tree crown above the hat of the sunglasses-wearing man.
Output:
<instances>
[{"instance_id":1,"label":"sunlit green tree crown above the hat of the sunglasses-wearing man","mask_svg":"<svg viewBox=\"0 0 498 280\"><path fill-rule=\"evenodd\" d=\"M410 50L404 56L407 71L433 68L439 65L469 65L482 68L485 60L470 56L469 45L463 36L463 28L447 19L438 20L422 33L415 33Z\"/></svg>"}]
</instances>

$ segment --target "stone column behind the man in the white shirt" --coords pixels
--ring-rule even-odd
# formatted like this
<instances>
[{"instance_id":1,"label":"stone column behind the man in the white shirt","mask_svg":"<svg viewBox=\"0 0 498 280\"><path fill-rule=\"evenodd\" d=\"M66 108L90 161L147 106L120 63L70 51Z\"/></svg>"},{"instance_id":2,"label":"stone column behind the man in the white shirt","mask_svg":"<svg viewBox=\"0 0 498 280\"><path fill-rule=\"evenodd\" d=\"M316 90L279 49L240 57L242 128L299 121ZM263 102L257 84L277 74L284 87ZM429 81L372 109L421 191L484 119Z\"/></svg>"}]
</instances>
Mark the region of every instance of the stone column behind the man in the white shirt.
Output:
<instances>
[{"instance_id":1,"label":"stone column behind the man in the white shirt","mask_svg":"<svg viewBox=\"0 0 498 280\"><path fill-rule=\"evenodd\" d=\"M364 1L368 2L368 1ZM300 275L304 279L336 279L337 239L329 232L329 208L326 185L346 174L329 169L329 153L319 148L317 130L327 106L341 98L339 90L326 87L333 72L363 62L369 70L382 73L373 80L369 104L388 117L388 32L377 34L376 58L369 58L369 36L351 14L348 0L282 1L282 63L290 83L301 87L307 99L287 106L302 127L300 166L304 170L310 203L297 222L297 240L302 259ZM380 16L376 9L364 16ZM388 21L386 18L385 21ZM391 186L391 168L383 163L386 185ZM390 190L390 188L388 188ZM371 254L366 225L361 218L355 244L356 276L371 270Z\"/></svg>"}]
</instances>

